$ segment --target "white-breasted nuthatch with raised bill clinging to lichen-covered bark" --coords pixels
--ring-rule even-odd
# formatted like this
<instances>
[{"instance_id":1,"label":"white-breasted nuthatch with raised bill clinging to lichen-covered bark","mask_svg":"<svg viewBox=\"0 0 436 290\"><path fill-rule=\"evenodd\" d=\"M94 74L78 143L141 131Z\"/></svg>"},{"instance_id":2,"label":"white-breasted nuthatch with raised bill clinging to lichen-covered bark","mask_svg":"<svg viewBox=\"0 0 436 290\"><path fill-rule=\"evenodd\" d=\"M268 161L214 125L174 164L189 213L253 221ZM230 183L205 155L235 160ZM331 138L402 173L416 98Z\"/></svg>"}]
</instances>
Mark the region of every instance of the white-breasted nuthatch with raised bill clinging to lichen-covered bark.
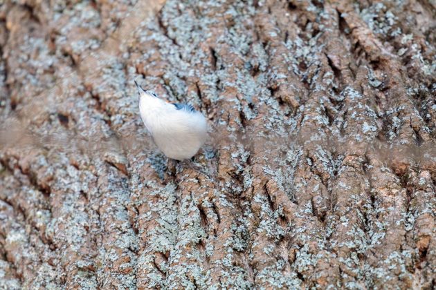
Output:
<instances>
[{"instance_id":1,"label":"white-breasted nuthatch with raised bill clinging to lichen-covered bark","mask_svg":"<svg viewBox=\"0 0 436 290\"><path fill-rule=\"evenodd\" d=\"M154 143L167 157L190 159L208 136L206 118L188 104L170 104L138 83L140 117L152 135Z\"/></svg>"}]
</instances>

